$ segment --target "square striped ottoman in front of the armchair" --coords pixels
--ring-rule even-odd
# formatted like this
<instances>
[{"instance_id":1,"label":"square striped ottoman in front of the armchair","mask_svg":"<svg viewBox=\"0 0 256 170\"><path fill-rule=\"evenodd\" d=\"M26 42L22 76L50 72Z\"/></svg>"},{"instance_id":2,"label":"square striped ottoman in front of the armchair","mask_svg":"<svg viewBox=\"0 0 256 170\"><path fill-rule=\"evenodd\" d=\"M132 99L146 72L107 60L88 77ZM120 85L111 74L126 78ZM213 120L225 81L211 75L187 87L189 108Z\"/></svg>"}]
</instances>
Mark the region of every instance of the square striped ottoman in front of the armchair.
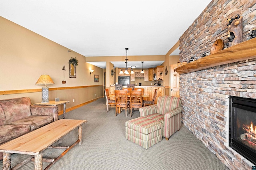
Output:
<instances>
[{"instance_id":1,"label":"square striped ottoman in front of the armchair","mask_svg":"<svg viewBox=\"0 0 256 170\"><path fill-rule=\"evenodd\" d=\"M125 123L126 139L145 149L162 140L163 124L146 117L138 117Z\"/></svg>"}]
</instances>

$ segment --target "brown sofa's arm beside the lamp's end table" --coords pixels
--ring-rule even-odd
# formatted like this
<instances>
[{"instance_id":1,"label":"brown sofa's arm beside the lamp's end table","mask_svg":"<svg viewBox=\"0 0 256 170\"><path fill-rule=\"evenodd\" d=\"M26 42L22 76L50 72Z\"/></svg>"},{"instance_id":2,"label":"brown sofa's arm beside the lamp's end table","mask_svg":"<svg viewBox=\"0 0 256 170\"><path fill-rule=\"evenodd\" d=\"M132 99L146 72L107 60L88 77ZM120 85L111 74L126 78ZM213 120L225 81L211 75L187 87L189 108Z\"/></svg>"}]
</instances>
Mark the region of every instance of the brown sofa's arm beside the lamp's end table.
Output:
<instances>
[{"instance_id":1,"label":"brown sofa's arm beside the lamp's end table","mask_svg":"<svg viewBox=\"0 0 256 170\"><path fill-rule=\"evenodd\" d=\"M31 115L38 116L52 116L53 121L58 120L58 107L57 106L30 106Z\"/></svg>"}]
</instances>

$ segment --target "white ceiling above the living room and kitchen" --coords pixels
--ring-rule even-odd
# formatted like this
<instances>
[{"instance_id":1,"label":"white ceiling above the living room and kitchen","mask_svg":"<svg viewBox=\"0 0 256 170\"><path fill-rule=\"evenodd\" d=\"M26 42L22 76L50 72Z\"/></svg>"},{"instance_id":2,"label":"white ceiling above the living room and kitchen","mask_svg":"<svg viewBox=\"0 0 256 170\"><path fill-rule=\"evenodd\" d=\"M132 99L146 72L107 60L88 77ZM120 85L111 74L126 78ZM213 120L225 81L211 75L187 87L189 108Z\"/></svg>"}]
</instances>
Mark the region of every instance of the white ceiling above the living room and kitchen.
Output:
<instances>
[{"instance_id":1,"label":"white ceiling above the living room and kitchen","mask_svg":"<svg viewBox=\"0 0 256 170\"><path fill-rule=\"evenodd\" d=\"M210 2L0 0L0 16L86 57L126 56L124 48L128 56L165 55Z\"/></svg>"}]
</instances>

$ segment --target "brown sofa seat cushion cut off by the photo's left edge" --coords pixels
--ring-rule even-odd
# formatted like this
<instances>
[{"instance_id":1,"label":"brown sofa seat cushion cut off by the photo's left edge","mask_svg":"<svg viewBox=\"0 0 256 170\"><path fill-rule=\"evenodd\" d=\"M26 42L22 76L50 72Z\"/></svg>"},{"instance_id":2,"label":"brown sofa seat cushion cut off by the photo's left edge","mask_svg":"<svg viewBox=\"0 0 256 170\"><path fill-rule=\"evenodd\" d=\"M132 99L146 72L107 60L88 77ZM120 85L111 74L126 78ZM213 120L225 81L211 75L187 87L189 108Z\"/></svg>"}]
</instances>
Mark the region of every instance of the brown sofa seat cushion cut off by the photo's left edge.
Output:
<instances>
[{"instance_id":1,"label":"brown sofa seat cushion cut off by the photo's left edge","mask_svg":"<svg viewBox=\"0 0 256 170\"><path fill-rule=\"evenodd\" d=\"M0 126L0 144L30 132L29 125L2 125Z\"/></svg>"}]
</instances>

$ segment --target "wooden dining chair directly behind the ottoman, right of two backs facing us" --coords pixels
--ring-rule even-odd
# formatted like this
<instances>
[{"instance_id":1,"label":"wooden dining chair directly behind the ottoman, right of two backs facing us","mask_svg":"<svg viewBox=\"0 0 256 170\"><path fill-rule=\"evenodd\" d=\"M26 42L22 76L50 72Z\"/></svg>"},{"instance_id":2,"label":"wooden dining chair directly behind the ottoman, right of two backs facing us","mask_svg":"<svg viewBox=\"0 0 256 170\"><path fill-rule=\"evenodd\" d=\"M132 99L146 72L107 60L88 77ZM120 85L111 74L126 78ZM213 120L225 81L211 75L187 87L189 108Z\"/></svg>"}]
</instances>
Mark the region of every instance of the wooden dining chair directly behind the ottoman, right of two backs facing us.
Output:
<instances>
[{"instance_id":1,"label":"wooden dining chair directly behind the ottoman, right of two backs facing us","mask_svg":"<svg viewBox=\"0 0 256 170\"><path fill-rule=\"evenodd\" d=\"M130 91L130 115L132 117L132 109L140 109L143 106L141 90Z\"/></svg>"}]
</instances>

